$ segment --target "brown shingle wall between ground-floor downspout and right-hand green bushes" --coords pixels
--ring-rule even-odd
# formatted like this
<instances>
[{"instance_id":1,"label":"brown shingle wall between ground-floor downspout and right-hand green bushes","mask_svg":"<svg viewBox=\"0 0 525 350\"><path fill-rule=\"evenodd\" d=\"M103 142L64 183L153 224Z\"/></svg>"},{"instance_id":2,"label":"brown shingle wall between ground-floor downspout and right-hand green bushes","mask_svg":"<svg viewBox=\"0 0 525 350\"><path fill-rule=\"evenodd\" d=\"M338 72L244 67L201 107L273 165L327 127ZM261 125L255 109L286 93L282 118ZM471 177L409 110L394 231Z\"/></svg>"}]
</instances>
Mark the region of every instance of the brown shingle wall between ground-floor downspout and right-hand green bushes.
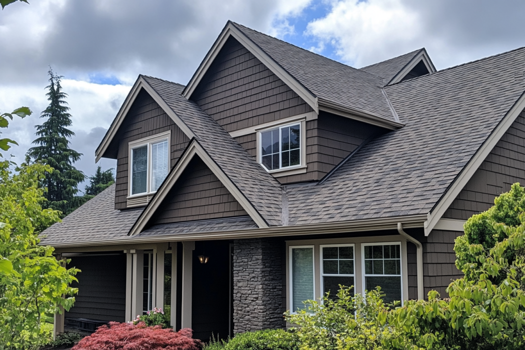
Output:
<instances>
[{"instance_id":1,"label":"brown shingle wall between ground-floor downspout and right-hand green bushes","mask_svg":"<svg viewBox=\"0 0 525 350\"><path fill-rule=\"evenodd\" d=\"M463 277L463 273L456 268L454 252L454 240L461 235L463 232L432 230L426 242L422 242L425 298L430 290L436 290L446 297L448 294L445 290L451 280Z\"/></svg>"}]
</instances>

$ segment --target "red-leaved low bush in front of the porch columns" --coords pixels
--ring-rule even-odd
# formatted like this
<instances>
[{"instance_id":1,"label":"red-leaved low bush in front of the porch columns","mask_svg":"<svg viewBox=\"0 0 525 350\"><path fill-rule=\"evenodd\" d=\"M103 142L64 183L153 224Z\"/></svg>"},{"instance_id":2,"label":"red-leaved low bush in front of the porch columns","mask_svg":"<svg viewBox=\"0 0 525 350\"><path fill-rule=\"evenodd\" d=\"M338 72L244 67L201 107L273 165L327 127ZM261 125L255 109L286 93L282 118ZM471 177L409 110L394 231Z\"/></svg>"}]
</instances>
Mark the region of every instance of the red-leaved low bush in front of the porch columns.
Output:
<instances>
[{"instance_id":1,"label":"red-leaved low bush in front of the porch columns","mask_svg":"<svg viewBox=\"0 0 525 350\"><path fill-rule=\"evenodd\" d=\"M148 327L144 322L110 322L83 338L72 350L199 350L201 345L201 341L192 338L190 328L174 332L161 326Z\"/></svg>"}]
</instances>

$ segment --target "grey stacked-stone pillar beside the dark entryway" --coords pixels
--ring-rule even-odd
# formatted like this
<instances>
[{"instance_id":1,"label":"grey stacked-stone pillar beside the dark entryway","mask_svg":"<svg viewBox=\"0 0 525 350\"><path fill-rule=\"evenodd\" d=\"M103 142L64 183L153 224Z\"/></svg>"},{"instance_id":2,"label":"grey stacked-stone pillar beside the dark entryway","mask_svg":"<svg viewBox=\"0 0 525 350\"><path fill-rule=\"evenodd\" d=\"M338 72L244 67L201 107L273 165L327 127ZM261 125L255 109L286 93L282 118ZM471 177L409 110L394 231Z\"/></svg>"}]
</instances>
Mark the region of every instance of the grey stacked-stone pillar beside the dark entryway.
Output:
<instances>
[{"instance_id":1,"label":"grey stacked-stone pillar beside the dark entryway","mask_svg":"<svg viewBox=\"0 0 525 350\"><path fill-rule=\"evenodd\" d=\"M234 333L285 326L285 249L276 239L234 241Z\"/></svg>"}]
</instances>

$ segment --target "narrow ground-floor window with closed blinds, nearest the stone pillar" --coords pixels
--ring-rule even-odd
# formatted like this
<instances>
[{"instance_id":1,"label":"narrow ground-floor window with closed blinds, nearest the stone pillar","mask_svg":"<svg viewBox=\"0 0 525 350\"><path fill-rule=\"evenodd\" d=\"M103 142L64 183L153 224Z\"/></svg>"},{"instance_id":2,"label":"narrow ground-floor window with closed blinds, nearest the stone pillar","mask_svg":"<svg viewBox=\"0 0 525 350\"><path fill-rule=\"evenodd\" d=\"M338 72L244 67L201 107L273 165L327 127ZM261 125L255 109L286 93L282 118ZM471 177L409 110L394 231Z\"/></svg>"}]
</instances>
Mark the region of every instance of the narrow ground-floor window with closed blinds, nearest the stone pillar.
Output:
<instances>
[{"instance_id":1,"label":"narrow ground-floor window with closed blinds, nearest the stone pillar","mask_svg":"<svg viewBox=\"0 0 525 350\"><path fill-rule=\"evenodd\" d=\"M315 300L313 246L295 246L289 250L290 311L306 309L304 301Z\"/></svg>"}]
</instances>

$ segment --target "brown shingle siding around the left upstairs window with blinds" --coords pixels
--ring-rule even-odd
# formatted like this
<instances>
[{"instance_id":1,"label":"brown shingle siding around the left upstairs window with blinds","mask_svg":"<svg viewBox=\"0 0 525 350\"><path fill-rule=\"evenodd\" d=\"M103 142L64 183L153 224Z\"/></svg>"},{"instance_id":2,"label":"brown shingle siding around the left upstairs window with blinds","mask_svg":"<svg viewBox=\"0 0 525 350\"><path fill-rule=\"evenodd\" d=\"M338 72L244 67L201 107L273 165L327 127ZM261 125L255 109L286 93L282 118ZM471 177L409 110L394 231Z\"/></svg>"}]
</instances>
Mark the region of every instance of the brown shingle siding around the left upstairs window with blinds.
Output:
<instances>
[{"instance_id":1,"label":"brown shingle siding around the left upstairs window with blinds","mask_svg":"<svg viewBox=\"0 0 525 350\"><path fill-rule=\"evenodd\" d=\"M173 167L190 139L173 122L151 96L142 90L126 115L116 139L118 139L115 209L125 209L128 197L128 144L131 141L171 131L171 157Z\"/></svg>"}]
</instances>

